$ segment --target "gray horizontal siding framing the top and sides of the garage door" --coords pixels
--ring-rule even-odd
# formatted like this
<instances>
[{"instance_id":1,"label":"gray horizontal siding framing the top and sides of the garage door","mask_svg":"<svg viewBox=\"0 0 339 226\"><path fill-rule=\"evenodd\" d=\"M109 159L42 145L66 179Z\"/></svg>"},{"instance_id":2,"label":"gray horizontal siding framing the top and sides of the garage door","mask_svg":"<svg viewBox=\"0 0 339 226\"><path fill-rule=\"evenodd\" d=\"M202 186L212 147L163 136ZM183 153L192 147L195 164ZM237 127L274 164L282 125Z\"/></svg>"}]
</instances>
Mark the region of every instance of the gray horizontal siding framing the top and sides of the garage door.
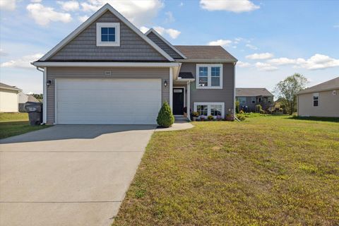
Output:
<instances>
[{"instance_id":1,"label":"gray horizontal siding framing the top and sides of the garage door","mask_svg":"<svg viewBox=\"0 0 339 226\"><path fill-rule=\"evenodd\" d=\"M112 71L105 76L105 71ZM165 68L48 68L47 80L52 84L47 88L47 124L55 121L55 79L57 78L161 78L162 83L169 81L169 69ZM74 84L76 85L76 84ZM169 102L169 85L161 85L162 102ZM137 110L137 109L136 109Z\"/></svg>"}]
</instances>

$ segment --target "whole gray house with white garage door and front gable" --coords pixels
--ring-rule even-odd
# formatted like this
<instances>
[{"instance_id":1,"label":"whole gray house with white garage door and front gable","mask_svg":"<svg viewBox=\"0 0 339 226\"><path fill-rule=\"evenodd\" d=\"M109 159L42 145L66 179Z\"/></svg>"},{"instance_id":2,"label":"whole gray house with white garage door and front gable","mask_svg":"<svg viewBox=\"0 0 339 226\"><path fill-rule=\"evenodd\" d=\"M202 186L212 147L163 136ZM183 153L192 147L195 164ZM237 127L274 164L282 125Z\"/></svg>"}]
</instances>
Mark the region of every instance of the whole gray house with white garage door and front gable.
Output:
<instances>
[{"instance_id":1,"label":"whole gray house with white garage door and front gable","mask_svg":"<svg viewBox=\"0 0 339 226\"><path fill-rule=\"evenodd\" d=\"M198 29L198 28L197 28ZM38 61L47 124L156 124L163 102L203 117L234 112L237 59L220 46L174 46L105 4Z\"/></svg>"}]
</instances>

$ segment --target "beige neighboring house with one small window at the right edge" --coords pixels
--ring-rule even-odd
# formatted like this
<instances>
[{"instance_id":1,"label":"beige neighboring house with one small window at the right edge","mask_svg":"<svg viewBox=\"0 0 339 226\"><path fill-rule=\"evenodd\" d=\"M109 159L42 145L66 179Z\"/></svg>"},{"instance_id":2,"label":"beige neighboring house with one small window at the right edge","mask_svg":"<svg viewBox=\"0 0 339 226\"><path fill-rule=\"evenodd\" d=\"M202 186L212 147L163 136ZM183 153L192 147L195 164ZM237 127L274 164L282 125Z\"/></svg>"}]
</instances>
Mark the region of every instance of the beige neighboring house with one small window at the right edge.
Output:
<instances>
[{"instance_id":1,"label":"beige neighboring house with one small window at the right edge","mask_svg":"<svg viewBox=\"0 0 339 226\"><path fill-rule=\"evenodd\" d=\"M339 77L298 93L298 116L339 117Z\"/></svg>"}]
</instances>

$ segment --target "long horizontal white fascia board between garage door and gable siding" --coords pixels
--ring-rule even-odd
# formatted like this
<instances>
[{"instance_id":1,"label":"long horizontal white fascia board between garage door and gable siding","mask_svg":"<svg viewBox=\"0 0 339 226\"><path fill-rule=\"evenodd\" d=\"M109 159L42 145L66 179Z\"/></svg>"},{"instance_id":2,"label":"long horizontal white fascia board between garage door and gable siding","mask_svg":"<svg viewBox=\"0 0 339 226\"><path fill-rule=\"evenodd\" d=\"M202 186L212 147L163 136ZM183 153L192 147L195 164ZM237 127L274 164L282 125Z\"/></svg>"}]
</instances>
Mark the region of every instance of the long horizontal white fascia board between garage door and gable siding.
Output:
<instances>
[{"instance_id":1,"label":"long horizontal white fascia board between garage door and gable siding","mask_svg":"<svg viewBox=\"0 0 339 226\"><path fill-rule=\"evenodd\" d=\"M147 62L50 62L50 61L35 61L34 66L63 66L63 67L179 67L180 63L147 63Z\"/></svg>"}]
</instances>

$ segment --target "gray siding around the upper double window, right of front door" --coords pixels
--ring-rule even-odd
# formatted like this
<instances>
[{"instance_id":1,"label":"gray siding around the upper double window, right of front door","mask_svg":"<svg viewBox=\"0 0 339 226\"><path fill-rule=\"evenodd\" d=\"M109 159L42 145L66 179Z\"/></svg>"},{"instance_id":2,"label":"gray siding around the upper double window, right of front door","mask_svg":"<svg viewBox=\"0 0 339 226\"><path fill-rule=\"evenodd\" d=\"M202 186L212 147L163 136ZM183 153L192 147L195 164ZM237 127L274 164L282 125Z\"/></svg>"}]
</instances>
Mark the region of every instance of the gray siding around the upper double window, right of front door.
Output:
<instances>
[{"instance_id":1,"label":"gray siding around the upper double window, right of front door","mask_svg":"<svg viewBox=\"0 0 339 226\"><path fill-rule=\"evenodd\" d=\"M182 63L180 71L191 72L196 78L196 63ZM194 111L194 102L224 102L225 114L234 109L234 64L222 64L222 74L222 89L196 89L196 81L191 83L191 111Z\"/></svg>"}]
</instances>

